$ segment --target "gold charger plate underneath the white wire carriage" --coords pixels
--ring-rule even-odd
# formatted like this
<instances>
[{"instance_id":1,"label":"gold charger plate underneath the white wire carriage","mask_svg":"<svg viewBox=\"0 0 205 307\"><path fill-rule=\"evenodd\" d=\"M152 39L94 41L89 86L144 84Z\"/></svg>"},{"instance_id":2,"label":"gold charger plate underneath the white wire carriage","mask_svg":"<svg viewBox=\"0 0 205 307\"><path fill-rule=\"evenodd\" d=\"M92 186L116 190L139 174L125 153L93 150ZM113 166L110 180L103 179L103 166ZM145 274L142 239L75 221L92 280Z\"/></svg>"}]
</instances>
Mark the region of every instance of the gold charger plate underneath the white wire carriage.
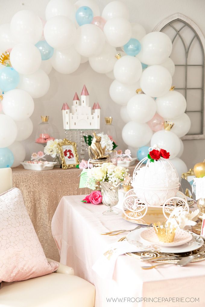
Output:
<instances>
[{"instance_id":1,"label":"gold charger plate underneath the white wire carriage","mask_svg":"<svg viewBox=\"0 0 205 307\"><path fill-rule=\"evenodd\" d=\"M129 210L127 210L127 212L130 212ZM141 212L142 215L144 214L145 209ZM168 215L168 214L167 214ZM154 208L154 207L148 207L147 213L145 214L145 216L143 216L141 219L139 220L132 220L130 218L128 218L126 215L124 215L124 213L122 213L122 218L126 221L132 222L132 223L136 223L136 224L141 224L141 225L149 225L149 224L153 224L153 223L163 223L165 222L167 219L164 217L162 208ZM196 218L194 219L194 221L197 221L198 217L196 216Z\"/></svg>"}]
</instances>

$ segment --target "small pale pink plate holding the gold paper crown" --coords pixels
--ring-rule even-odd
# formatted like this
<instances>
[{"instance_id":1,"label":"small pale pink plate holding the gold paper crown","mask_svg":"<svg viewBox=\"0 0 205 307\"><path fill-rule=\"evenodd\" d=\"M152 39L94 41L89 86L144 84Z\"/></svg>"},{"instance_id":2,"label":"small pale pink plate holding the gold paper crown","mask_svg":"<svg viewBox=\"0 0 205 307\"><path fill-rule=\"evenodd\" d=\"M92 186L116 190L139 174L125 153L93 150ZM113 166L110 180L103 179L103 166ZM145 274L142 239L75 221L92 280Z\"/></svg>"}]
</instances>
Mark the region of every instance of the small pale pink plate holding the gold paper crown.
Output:
<instances>
[{"instance_id":1,"label":"small pale pink plate holding the gold paper crown","mask_svg":"<svg viewBox=\"0 0 205 307\"><path fill-rule=\"evenodd\" d=\"M152 243L152 244L157 244L160 246L166 246L166 247L172 247L172 246L179 246L182 244L185 244L192 239L191 233L177 228L174 236L174 241L173 242L161 242L156 234L156 231L153 227L150 228L145 228L141 233L140 233L141 239L145 241L145 243Z\"/></svg>"}]
</instances>

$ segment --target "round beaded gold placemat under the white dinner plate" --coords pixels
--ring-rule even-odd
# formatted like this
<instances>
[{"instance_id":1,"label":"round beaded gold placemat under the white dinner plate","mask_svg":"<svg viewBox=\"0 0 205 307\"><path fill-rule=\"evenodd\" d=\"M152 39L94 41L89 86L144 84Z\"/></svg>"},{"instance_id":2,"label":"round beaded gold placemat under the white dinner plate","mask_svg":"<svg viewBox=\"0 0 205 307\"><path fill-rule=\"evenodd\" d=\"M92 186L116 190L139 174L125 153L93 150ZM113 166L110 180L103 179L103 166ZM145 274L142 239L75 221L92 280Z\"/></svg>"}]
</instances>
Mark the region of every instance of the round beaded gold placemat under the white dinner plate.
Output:
<instances>
[{"instance_id":1,"label":"round beaded gold placemat under the white dinner plate","mask_svg":"<svg viewBox=\"0 0 205 307\"><path fill-rule=\"evenodd\" d=\"M124 241L126 237L121 238L119 241ZM191 262L197 262L205 260L205 242L203 243L202 247L199 249L196 249L195 251L190 251L186 253L160 253L156 251L141 251L141 252L134 252L134 253L125 253L125 255L134 257L136 259L140 259L143 257L159 257L159 256L176 256L176 257L186 257L186 256L194 256L195 258ZM174 263L176 264L178 262L178 259L168 259L168 260L152 260L153 262L160 262L160 263Z\"/></svg>"}]
</instances>

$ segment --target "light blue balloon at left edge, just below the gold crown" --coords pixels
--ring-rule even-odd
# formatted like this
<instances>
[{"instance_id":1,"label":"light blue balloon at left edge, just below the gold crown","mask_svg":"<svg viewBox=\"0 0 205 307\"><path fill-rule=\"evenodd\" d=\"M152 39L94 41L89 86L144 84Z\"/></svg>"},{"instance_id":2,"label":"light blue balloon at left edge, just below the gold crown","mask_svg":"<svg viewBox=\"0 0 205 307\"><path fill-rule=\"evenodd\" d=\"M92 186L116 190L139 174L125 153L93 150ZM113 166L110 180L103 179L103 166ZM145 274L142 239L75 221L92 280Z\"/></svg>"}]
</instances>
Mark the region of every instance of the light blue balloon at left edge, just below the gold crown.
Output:
<instances>
[{"instance_id":1,"label":"light blue balloon at left edge, just below the gold crown","mask_svg":"<svg viewBox=\"0 0 205 307\"><path fill-rule=\"evenodd\" d=\"M0 89L3 92L16 88L19 80L19 74L13 67L4 67L0 70Z\"/></svg>"}]
</instances>

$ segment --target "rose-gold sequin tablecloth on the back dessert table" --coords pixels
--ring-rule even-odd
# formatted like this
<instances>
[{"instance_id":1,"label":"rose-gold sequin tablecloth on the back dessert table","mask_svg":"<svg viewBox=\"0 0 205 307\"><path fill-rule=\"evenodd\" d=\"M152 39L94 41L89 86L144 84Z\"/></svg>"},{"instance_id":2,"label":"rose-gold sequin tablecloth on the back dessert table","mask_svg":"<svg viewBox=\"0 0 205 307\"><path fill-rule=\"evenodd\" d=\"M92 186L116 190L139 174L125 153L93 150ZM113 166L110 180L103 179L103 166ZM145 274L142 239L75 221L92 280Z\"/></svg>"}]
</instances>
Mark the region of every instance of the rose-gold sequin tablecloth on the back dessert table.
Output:
<instances>
[{"instance_id":1,"label":"rose-gold sequin tablecloth on the back dessert table","mask_svg":"<svg viewBox=\"0 0 205 307\"><path fill-rule=\"evenodd\" d=\"M136 165L129 167L132 174ZM46 257L58 261L58 249L51 233L51 220L63 196L89 194L79 188L81 169L32 171L22 166L12 169L13 184L22 191L23 199Z\"/></svg>"}]
</instances>

